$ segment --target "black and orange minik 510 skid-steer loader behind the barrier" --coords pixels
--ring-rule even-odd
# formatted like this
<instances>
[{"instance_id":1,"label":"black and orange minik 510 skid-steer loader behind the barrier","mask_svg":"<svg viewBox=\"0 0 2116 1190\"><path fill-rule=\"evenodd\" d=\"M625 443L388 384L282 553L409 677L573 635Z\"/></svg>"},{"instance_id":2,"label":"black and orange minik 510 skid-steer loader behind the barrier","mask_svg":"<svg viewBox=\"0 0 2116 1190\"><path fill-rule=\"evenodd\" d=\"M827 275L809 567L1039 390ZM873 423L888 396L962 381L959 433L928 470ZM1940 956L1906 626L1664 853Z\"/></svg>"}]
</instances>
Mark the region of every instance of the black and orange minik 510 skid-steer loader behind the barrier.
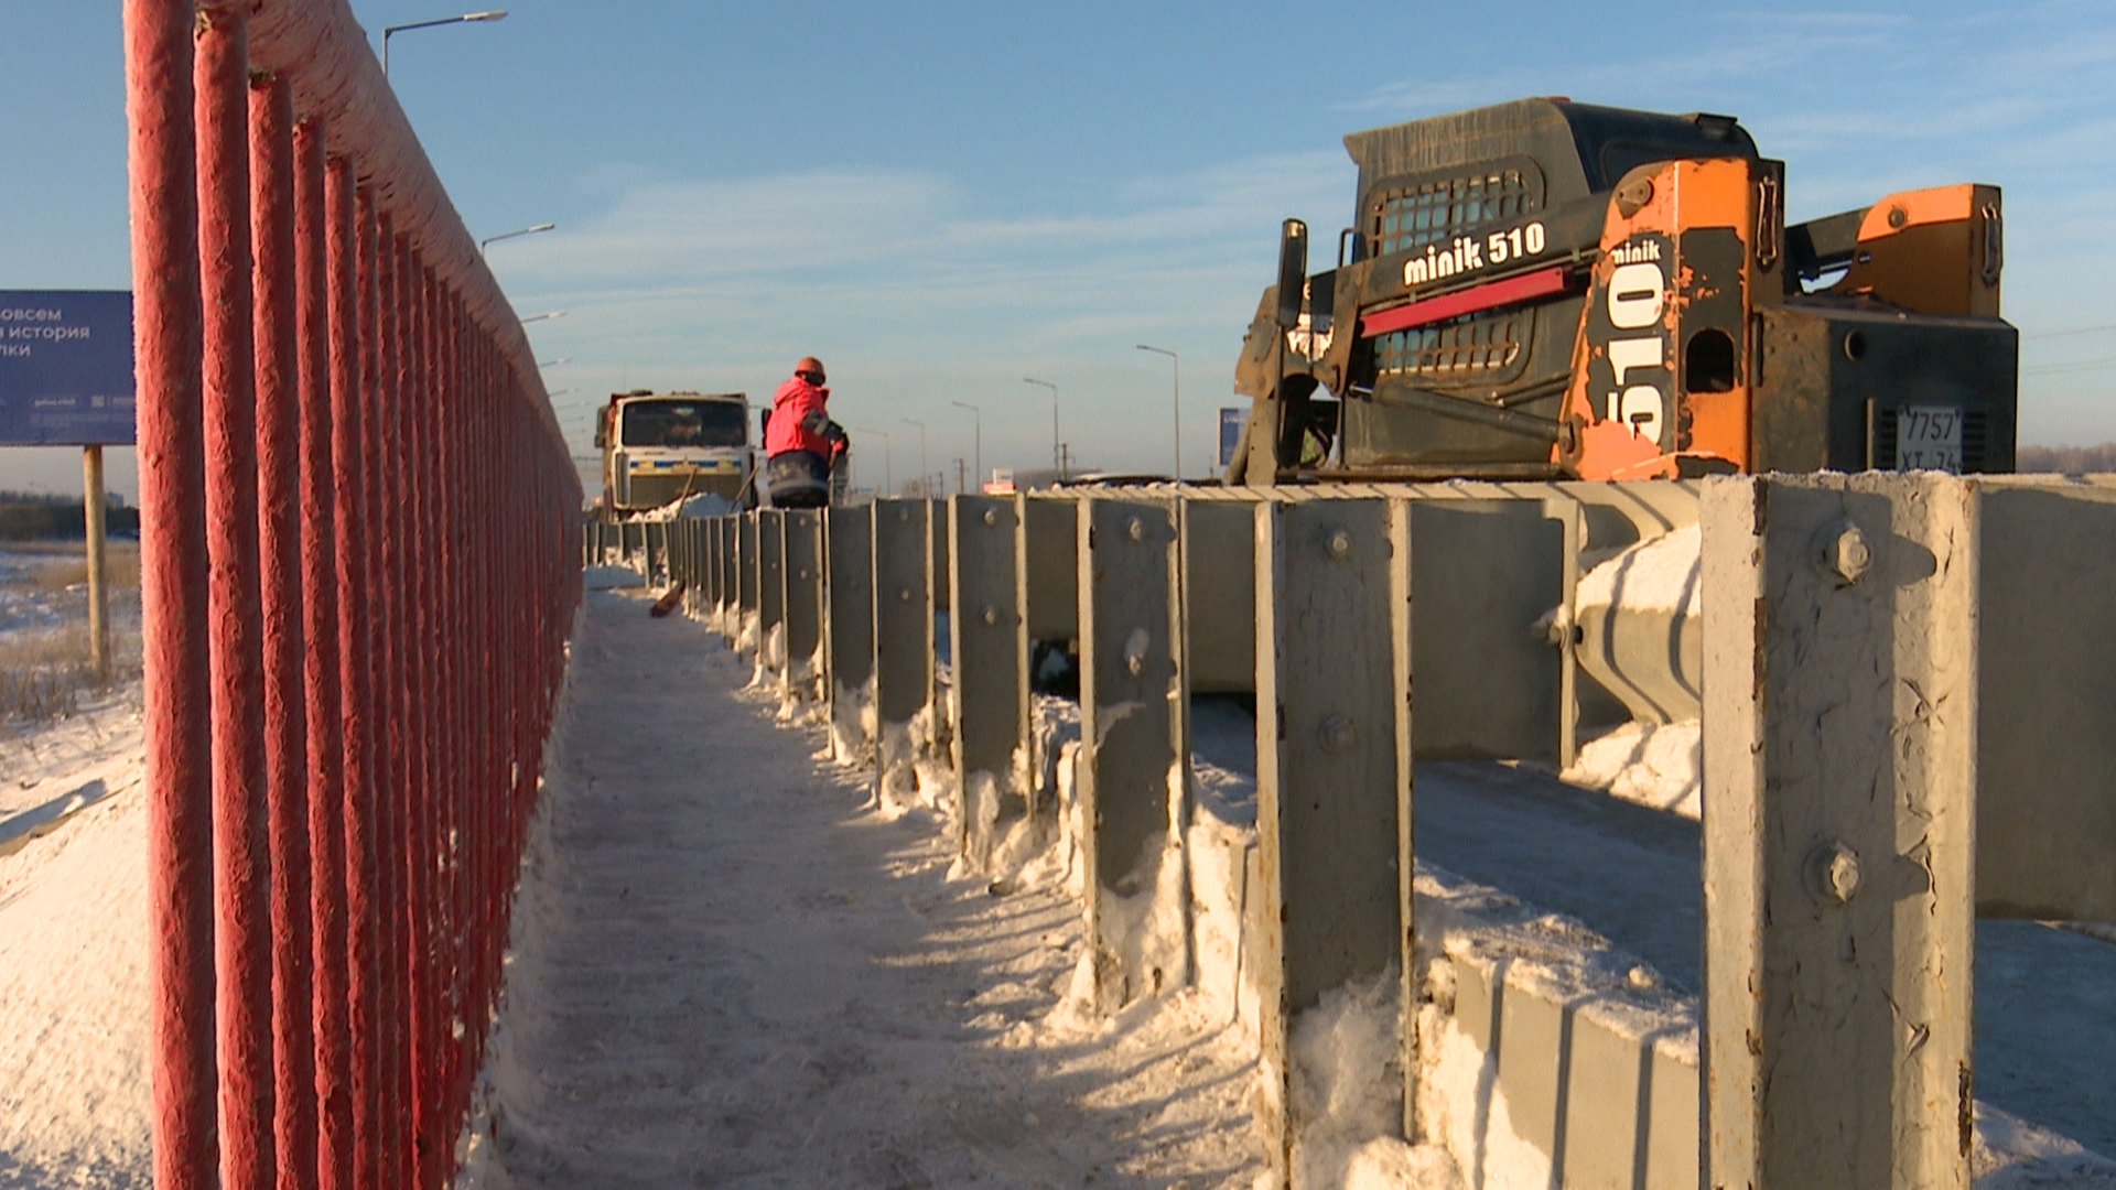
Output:
<instances>
[{"instance_id":1,"label":"black and orange minik 510 skid-steer loader behind the barrier","mask_svg":"<svg viewBox=\"0 0 2116 1190\"><path fill-rule=\"evenodd\" d=\"M1519 100L1344 140L1280 231L1227 483L2012 470L1998 186L1786 222L1733 116Z\"/></svg>"}]
</instances>

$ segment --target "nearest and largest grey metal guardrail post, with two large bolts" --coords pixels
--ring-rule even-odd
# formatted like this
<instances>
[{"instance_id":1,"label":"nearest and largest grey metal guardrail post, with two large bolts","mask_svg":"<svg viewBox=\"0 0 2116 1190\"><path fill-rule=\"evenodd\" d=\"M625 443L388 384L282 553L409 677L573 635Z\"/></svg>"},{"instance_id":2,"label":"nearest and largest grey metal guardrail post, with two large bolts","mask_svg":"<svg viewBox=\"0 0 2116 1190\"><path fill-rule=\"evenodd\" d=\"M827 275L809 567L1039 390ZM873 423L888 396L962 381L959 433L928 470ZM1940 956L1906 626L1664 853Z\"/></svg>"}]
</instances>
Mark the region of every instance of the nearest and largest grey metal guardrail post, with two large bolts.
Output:
<instances>
[{"instance_id":1,"label":"nearest and largest grey metal guardrail post, with two large bolts","mask_svg":"<svg viewBox=\"0 0 2116 1190\"><path fill-rule=\"evenodd\" d=\"M1966 481L1705 485L1714 1186L1970 1184Z\"/></svg>"}]
</instances>

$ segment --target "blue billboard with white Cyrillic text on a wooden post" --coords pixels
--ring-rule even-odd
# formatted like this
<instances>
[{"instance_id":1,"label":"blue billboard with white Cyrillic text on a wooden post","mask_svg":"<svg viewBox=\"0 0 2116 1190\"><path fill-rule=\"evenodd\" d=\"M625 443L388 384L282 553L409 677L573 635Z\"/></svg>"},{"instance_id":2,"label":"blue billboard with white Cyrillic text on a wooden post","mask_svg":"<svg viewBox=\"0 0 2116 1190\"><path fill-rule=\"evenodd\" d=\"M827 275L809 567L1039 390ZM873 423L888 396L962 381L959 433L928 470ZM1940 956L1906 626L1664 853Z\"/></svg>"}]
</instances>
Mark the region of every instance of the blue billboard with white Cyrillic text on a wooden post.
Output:
<instances>
[{"instance_id":1,"label":"blue billboard with white Cyrillic text on a wooden post","mask_svg":"<svg viewBox=\"0 0 2116 1190\"><path fill-rule=\"evenodd\" d=\"M133 443L129 290L0 290L0 447Z\"/></svg>"}]
</instances>

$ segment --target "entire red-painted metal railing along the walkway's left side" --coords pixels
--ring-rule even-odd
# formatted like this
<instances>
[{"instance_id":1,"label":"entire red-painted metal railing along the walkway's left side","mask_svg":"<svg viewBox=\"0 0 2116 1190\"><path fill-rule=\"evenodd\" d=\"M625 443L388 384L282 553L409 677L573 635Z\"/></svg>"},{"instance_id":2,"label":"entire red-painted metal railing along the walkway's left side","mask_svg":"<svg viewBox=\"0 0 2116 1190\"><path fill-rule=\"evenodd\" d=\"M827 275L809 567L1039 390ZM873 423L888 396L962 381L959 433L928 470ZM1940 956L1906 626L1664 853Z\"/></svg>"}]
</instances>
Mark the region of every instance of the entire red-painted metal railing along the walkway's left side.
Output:
<instances>
[{"instance_id":1,"label":"entire red-painted metal railing along the walkway's left side","mask_svg":"<svg viewBox=\"0 0 2116 1190\"><path fill-rule=\"evenodd\" d=\"M154 1177L440 1186L580 485L345 0L125 0L125 55Z\"/></svg>"}]
</instances>

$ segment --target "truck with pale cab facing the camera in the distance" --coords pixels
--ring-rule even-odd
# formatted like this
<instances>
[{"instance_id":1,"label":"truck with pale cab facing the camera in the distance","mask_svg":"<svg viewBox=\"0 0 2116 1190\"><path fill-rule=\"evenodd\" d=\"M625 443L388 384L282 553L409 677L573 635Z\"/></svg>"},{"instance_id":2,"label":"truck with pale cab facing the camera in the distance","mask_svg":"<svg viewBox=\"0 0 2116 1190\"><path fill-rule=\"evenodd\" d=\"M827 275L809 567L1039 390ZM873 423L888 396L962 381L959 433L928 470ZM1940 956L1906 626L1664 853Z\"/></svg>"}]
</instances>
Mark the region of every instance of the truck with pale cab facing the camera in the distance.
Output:
<instances>
[{"instance_id":1,"label":"truck with pale cab facing the camera in the distance","mask_svg":"<svg viewBox=\"0 0 2116 1190\"><path fill-rule=\"evenodd\" d=\"M603 510L622 519L692 495L755 504L749 396L633 390L609 394L595 421Z\"/></svg>"}]
</instances>

